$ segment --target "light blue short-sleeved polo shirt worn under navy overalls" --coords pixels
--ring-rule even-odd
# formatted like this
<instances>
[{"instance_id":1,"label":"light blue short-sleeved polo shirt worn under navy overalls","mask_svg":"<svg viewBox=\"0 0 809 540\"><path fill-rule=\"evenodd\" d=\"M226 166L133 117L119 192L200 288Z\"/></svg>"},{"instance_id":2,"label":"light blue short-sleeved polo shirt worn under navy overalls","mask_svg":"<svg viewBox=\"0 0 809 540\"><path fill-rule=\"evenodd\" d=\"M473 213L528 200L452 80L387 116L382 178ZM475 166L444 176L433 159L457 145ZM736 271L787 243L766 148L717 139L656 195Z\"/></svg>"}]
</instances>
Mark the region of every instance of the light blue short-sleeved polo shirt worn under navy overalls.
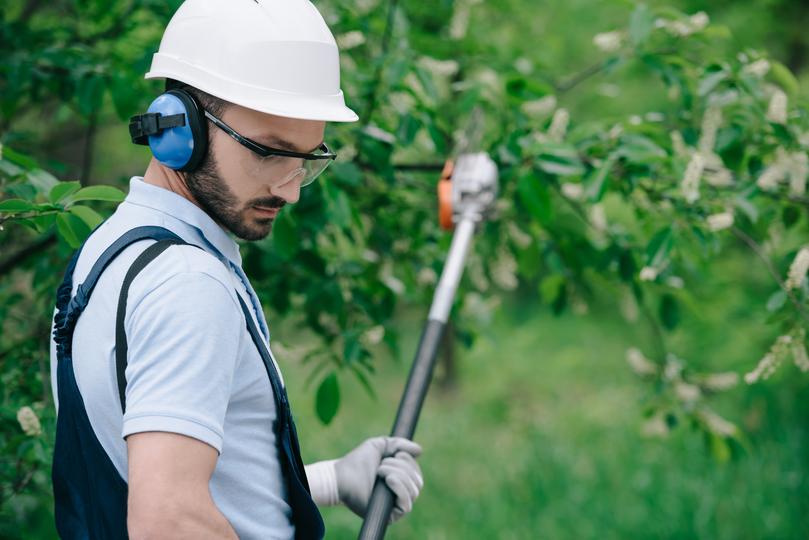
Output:
<instances>
[{"instance_id":1,"label":"light blue short-sleeved polo shirt worn under navy overalls","mask_svg":"<svg viewBox=\"0 0 809 540\"><path fill-rule=\"evenodd\" d=\"M171 246L132 282L123 417L115 374L118 294L132 262L154 241L133 244L101 275L73 337L73 369L93 430L124 480L127 435L165 431L213 446L219 459L211 494L239 537L293 538L272 431L272 388L237 294L252 305L268 342L269 332L238 245L184 197L140 177L129 186L126 200L87 240L73 275L74 294L104 249L138 226L165 227L204 251ZM51 341L54 396L55 362Z\"/></svg>"}]
</instances>

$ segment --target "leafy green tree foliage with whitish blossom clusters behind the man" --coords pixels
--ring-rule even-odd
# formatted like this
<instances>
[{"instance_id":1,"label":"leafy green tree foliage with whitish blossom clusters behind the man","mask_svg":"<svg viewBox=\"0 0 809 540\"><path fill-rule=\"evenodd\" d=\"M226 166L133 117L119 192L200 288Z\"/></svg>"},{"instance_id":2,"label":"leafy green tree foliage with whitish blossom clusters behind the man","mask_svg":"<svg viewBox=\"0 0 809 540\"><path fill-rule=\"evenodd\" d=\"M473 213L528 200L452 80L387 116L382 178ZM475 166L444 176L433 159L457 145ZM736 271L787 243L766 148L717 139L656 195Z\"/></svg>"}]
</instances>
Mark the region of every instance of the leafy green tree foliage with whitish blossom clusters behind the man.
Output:
<instances>
[{"instance_id":1,"label":"leafy green tree foliage with whitish blossom clusters behind the man","mask_svg":"<svg viewBox=\"0 0 809 540\"><path fill-rule=\"evenodd\" d=\"M111 186L57 180L58 165L45 152L34 159L19 150L44 140L25 120L41 109L79 125L92 161L99 111L114 110L120 122L159 91L141 76L177 3L136 1L116 12L112 3L91 2L87 9L98 13L88 24L78 14L75 24L61 20L60 2L18 3L3 19L3 35L13 37L2 41L0 66L4 505L25 490L49 489L46 338L61 277L54 269L123 196ZM328 180L279 216L269 241L243 252L273 317L316 337L306 346L274 337L273 346L312 366L323 422L337 413L343 377L373 392L375 351L399 352L396 307L430 297L449 241L434 217L434 185L477 107L502 196L498 219L485 226L469 261L456 339L468 343L510 295L560 314L582 313L612 294L654 337L653 349L627 352L630 368L653 389L645 429L664 433L690 421L717 458L742 448L743 434L710 407L710 396L742 376L760 383L787 361L809 369L809 126L790 71L759 51L728 53L727 29L705 13L642 4L625 27L593 38L595 63L566 77L537 67L528 47L515 51L502 36L484 44L470 32L496 10L519 18L521 5L356 0L318 8L337 35L343 88L361 122L329 126L340 160ZM57 41L42 30L53 27ZM654 108L610 116L567 105L574 89L593 81L618 95L644 85ZM666 332L679 323L689 284L740 247L772 278L761 309L771 314L773 346L744 359L744 373L696 371L668 347Z\"/></svg>"}]
</instances>

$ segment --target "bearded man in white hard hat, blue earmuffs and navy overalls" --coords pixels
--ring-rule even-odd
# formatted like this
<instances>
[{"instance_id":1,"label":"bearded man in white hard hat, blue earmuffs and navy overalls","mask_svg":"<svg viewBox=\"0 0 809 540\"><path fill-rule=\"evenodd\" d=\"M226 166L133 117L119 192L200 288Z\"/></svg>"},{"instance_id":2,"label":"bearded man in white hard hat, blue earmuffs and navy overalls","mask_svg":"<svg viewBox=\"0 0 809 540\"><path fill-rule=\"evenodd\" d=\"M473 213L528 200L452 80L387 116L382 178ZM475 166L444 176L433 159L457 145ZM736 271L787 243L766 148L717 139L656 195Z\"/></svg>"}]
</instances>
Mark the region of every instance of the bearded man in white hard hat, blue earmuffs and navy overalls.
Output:
<instances>
[{"instance_id":1,"label":"bearded man in white hard hat, blue earmuffs and navy overalls","mask_svg":"<svg viewBox=\"0 0 809 540\"><path fill-rule=\"evenodd\" d=\"M133 118L154 158L57 295L54 495L64 538L320 538L315 505L362 516L377 476L393 519L421 449L369 439L305 467L238 246L266 237L354 121L334 38L308 0L188 0Z\"/></svg>"}]
</instances>

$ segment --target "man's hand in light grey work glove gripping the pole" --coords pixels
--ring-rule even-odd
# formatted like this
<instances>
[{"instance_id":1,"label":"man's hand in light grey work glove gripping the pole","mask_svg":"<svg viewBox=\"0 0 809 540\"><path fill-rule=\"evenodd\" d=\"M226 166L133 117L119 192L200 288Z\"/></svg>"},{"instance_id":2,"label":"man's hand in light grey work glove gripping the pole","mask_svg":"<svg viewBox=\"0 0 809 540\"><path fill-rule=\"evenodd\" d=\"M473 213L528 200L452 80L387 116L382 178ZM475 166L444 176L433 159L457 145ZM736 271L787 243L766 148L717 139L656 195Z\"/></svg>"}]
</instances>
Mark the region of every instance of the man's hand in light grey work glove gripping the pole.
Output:
<instances>
[{"instance_id":1,"label":"man's hand in light grey work glove gripping the pole","mask_svg":"<svg viewBox=\"0 0 809 540\"><path fill-rule=\"evenodd\" d=\"M373 437L334 463L340 501L365 517L377 475L385 479L396 495L390 522L413 509L413 501L424 486L415 458L421 447L401 437Z\"/></svg>"}]
</instances>

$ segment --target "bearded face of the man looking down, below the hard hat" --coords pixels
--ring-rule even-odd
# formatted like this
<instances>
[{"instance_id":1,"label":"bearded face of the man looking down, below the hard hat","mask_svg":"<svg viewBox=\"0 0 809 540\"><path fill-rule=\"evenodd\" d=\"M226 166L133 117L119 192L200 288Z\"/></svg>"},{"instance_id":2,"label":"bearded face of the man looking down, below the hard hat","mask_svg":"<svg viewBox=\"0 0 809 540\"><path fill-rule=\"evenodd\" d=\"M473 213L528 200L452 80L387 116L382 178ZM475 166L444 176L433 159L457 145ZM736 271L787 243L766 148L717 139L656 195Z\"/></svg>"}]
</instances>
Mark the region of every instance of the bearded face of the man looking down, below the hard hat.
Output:
<instances>
[{"instance_id":1,"label":"bearded face of the man looking down, below the hard hat","mask_svg":"<svg viewBox=\"0 0 809 540\"><path fill-rule=\"evenodd\" d=\"M326 123L300 120L228 105L219 117L239 134L273 148L312 152L323 141ZM202 165L186 174L197 203L216 222L243 240L260 240L287 203L300 196L300 166L294 160L262 158L208 123L211 144Z\"/></svg>"}]
</instances>

